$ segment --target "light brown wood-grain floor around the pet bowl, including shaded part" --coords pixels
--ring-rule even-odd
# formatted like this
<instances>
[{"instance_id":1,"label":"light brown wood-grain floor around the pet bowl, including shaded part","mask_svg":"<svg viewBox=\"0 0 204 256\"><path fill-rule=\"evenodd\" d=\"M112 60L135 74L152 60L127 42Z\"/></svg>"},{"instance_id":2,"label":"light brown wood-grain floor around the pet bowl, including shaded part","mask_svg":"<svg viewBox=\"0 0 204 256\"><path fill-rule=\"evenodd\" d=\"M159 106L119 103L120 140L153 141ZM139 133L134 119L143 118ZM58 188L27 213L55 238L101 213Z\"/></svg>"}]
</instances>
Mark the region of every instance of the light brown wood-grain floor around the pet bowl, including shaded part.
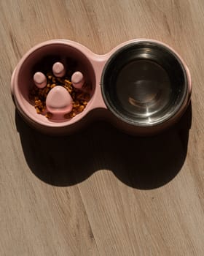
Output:
<instances>
[{"instance_id":1,"label":"light brown wood-grain floor around the pet bowl, including shaded part","mask_svg":"<svg viewBox=\"0 0 204 256\"><path fill-rule=\"evenodd\" d=\"M0 255L204 255L204 1L0 1ZM103 54L134 38L173 47L192 74L176 127L132 138L95 121L34 131L10 95L17 62L47 39Z\"/></svg>"}]
</instances>

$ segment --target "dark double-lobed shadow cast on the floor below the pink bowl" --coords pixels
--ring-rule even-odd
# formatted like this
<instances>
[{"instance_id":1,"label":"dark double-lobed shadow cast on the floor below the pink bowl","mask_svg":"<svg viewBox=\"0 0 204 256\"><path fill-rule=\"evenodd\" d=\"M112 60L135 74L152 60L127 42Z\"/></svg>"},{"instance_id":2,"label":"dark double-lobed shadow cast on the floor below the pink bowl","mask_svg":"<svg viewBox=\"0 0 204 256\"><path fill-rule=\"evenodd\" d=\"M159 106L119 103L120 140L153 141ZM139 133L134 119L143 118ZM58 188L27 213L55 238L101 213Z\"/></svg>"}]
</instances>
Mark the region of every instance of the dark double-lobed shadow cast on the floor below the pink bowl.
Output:
<instances>
[{"instance_id":1,"label":"dark double-lobed shadow cast on the floor below the pink bowl","mask_svg":"<svg viewBox=\"0 0 204 256\"><path fill-rule=\"evenodd\" d=\"M120 181L136 189L154 189L171 181L187 156L192 106L165 132L133 137L104 121L95 121L68 136L38 132L15 113L26 162L47 184L72 186L97 170L110 170Z\"/></svg>"}]
</instances>

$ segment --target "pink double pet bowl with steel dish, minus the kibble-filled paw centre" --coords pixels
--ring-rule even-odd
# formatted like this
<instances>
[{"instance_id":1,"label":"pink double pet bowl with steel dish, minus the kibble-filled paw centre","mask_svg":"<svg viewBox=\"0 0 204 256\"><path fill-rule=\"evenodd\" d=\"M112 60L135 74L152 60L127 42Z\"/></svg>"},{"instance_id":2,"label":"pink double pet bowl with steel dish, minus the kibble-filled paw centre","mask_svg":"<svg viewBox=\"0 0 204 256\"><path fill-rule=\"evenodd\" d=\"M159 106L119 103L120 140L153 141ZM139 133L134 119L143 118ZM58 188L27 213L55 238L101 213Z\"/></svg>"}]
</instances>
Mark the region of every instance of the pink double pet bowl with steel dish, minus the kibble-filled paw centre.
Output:
<instances>
[{"instance_id":1,"label":"pink double pet bowl with steel dish, minus the kibble-filled paw centre","mask_svg":"<svg viewBox=\"0 0 204 256\"><path fill-rule=\"evenodd\" d=\"M34 73L45 63L72 61L90 83L91 98L73 118L49 119L36 113L29 91ZM181 56L152 39L133 39L105 55L63 39L31 48L12 74L12 95L28 124L42 132L66 134L93 118L106 118L132 135L151 135L174 124L187 109L191 77Z\"/></svg>"}]
</instances>

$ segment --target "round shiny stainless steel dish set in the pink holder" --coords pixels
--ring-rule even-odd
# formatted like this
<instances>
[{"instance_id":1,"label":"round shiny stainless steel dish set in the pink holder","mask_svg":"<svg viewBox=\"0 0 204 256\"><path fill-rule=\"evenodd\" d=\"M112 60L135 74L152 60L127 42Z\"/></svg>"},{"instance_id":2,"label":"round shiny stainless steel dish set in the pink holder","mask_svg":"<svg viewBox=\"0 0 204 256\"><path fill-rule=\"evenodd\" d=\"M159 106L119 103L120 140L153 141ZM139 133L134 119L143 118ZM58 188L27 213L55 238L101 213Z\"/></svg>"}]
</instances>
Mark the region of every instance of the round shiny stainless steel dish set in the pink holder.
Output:
<instances>
[{"instance_id":1,"label":"round shiny stainless steel dish set in the pink holder","mask_svg":"<svg viewBox=\"0 0 204 256\"><path fill-rule=\"evenodd\" d=\"M153 126L181 108L187 94L187 75L169 48L157 42L133 42L107 61L101 90L109 110L122 121Z\"/></svg>"}]
</instances>

